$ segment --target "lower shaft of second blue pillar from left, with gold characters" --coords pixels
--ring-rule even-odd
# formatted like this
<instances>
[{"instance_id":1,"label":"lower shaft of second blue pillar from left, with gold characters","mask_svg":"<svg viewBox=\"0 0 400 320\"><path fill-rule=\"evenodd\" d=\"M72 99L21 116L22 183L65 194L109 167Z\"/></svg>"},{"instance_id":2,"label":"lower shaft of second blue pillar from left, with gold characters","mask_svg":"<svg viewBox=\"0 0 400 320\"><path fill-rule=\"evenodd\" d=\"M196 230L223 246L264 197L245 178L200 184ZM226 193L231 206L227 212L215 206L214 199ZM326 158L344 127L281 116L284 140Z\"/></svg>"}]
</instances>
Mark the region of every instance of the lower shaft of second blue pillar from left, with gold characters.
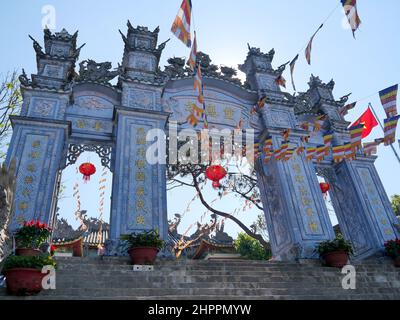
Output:
<instances>
[{"instance_id":1,"label":"lower shaft of second blue pillar from left, with gold characters","mask_svg":"<svg viewBox=\"0 0 400 320\"><path fill-rule=\"evenodd\" d=\"M163 239L167 237L165 165L152 165L146 159L150 145L146 134L163 128L167 115L122 107L116 110L109 254L121 254L117 247L123 234L156 229Z\"/></svg>"}]
</instances>

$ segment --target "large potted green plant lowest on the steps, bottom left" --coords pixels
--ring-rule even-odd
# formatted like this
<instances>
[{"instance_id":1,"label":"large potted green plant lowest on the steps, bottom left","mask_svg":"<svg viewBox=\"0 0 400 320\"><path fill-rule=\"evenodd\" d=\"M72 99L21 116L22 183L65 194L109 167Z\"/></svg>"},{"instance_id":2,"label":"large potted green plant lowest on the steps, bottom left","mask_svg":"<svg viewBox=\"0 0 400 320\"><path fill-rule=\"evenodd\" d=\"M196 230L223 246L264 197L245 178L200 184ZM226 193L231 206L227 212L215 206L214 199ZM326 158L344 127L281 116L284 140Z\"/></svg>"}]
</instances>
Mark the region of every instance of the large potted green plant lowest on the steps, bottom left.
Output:
<instances>
[{"instance_id":1,"label":"large potted green plant lowest on the steps, bottom left","mask_svg":"<svg viewBox=\"0 0 400 320\"><path fill-rule=\"evenodd\" d=\"M2 273L6 277L7 291L12 295L34 295L42 288L44 266L56 267L49 254L38 256L10 255L4 261Z\"/></svg>"}]
</instances>

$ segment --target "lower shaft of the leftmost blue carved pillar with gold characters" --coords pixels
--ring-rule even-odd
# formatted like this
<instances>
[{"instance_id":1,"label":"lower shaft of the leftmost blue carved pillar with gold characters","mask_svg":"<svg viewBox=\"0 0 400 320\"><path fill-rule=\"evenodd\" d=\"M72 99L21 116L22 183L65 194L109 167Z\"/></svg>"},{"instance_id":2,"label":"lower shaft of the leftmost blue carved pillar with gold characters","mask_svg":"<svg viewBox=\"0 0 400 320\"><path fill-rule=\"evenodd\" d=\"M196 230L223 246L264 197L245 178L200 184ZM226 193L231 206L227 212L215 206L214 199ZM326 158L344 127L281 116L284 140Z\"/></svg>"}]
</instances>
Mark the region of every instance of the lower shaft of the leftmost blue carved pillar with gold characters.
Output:
<instances>
[{"instance_id":1,"label":"lower shaft of the leftmost blue carved pillar with gold characters","mask_svg":"<svg viewBox=\"0 0 400 320\"><path fill-rule=\"evenodd\" d=\"M16 160L15 217L18 220L52 221L54 186L70 125L65 121L39 120L14 116L13 135L6 163Z\"/></svg>"}]
</instances>

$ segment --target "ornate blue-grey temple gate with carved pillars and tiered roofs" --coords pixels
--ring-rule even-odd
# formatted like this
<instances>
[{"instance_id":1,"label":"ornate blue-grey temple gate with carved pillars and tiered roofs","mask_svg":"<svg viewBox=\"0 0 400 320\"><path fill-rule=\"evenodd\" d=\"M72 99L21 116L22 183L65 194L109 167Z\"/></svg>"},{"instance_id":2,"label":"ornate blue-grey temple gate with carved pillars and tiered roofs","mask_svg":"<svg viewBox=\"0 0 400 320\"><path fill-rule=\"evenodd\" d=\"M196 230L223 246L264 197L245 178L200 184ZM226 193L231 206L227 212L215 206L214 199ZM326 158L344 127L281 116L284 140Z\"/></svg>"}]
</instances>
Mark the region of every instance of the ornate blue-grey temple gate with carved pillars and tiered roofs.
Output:
<instances>
[{"instance_id":1,"label":"ornate blue-grey temple gate with carved pillars and tiered roofs","mask_svg":"<svg viewBox=\"0 0 400 320\"><path fill-rule=\"evenodd\" d=\"M44 52L34 41L38 71L20 77L24 103L20 116L12 117L14 132L7 156L17 160L16 217L54 218L56 184L60 170L72 164L82 151L95 151L113 172L111 240L109 254L119 254L121 234L158 229L167 236L166 175L164 165L145 161L146 133L165 129L168 120L186 119L195 100L193 78L184 60L170 59L165 71L159 61L165 43L157 46L158 28L134 28L128 22L122 66L80 63L77 34L45 30ZM294 97L280 91L275 79L284 67L272 68L275 52L250 48L240 69L242 85L229 68L211 64L202 56L207 116L210 126L255 128L261 139L272 136L274 148L290 128L290 142L300 146L309 132L300 123L326 114L325 130L334 130L334 143L349 140L346 122L338 113L346 99L336 101L334 83L311 77L310 89ZM109 81L118 77L118 84ZM267 95L260 114L250 110ZM181 125L181 129L187 125ZM262 140L260 141L262 142ZM310 145L322 144L315 135ZM374 254L384 241L397 235L395 216L374 167L374 157L358 154L357 160L334 165L327 157L318 166L302 156L288 162L256 163L259 188L274 256L281 260L314 258L316 243L334 237L316 172L332 185L332 200L340 228L356 248L357 257ZM14 221L13 228L17 224Z\"/></svg>"}]
</instances>

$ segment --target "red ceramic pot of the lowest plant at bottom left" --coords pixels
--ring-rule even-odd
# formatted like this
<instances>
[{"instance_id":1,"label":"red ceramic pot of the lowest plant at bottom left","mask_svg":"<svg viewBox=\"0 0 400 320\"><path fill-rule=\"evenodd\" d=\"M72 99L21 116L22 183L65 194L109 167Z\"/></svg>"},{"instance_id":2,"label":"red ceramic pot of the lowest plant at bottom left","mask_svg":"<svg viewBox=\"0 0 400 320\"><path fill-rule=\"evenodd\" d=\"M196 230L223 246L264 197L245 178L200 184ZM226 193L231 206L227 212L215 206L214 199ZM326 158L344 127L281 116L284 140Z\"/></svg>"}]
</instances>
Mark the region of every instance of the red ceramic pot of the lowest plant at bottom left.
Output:
<instances>
[{"instance_id":1,"label":"red ceramic pot of the lowest plant at bottom left","mask_svg":"<svg viewBox=\"0 0 400 320\"><path fill-rule=\"evenodd\" d=\"M7 291L12 295L29 296L42 291L46 274L32 268L14 268L5 272Z\"/></svg>"}]
</instances>

